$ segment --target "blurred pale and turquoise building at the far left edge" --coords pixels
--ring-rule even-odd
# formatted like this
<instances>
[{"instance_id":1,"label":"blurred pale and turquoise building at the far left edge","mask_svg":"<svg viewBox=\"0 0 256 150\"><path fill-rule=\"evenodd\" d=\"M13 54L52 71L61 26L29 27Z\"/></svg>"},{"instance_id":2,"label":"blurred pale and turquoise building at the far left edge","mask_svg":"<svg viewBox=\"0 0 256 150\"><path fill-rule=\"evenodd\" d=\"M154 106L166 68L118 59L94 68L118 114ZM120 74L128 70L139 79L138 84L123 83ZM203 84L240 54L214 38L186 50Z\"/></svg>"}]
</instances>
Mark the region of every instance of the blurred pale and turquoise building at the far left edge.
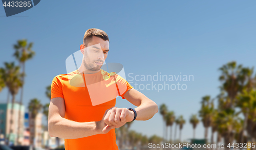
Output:
<instances>
[{"instance_id":1,"label":"blurred pale and turquoise building at the far left edge","mask_svg":"<svg viewBox=\"0 0 256 150\"><path fill-rule=\"evenodd\" d=\"M0 136L4 139L9 139L13 144L16 143L16 138L18 137L19 144L23 145L24 141L24 105L20 105L19 103L14 103L13 107L13 123L11 124L11 108L12 103L2 103L0 104ZM18 115L20 110L20 122L18 122ZM19 128L18 128L19 123ZM10 134L10 130L12 133Z\"/></svg>"}]
</instances>

